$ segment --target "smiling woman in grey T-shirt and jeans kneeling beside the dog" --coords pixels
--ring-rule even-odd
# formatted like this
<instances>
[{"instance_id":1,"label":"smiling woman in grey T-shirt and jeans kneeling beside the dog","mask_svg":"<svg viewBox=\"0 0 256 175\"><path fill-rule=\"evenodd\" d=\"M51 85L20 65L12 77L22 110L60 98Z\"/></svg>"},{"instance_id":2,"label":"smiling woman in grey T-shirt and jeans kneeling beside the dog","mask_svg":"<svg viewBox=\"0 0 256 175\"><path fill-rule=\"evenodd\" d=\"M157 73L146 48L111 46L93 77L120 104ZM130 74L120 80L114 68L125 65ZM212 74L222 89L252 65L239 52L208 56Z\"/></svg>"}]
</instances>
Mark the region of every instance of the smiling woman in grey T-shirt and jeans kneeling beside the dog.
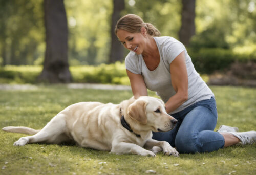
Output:
<instances>
[{"instance_id":1,"label":"smiling woman in grey T-shirt and jeans kneeling beside the dog","mask_svg":"<svg viewBox=\"0 0 256 175\"><path fill-rule=\"evenodd\" d=\"M213 131L217 123L214 94L196 72L181 42L159 37L152 24L134 14L119 19L115 33L131 51L125 67L134 97L147 96L147 88L156 91L167 113L178 120L173 130L153 133L153 139L165 140L181 153L210 152L256 141L255 131L238 133L236 128L224 125Z\"/></svg>"}]
</instances>

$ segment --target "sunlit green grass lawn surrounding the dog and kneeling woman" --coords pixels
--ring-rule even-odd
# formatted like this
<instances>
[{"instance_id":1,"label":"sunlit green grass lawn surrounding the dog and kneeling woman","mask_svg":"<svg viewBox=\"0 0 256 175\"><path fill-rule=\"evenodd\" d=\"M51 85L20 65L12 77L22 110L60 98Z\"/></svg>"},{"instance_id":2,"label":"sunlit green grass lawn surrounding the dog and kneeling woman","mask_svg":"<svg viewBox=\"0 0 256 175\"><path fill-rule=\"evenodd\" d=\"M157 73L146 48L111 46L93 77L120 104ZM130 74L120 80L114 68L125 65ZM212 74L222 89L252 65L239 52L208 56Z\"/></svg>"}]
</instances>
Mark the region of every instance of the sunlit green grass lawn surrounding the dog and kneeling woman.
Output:
<instances>
[{"instance_id":1,"label":"sunlit green grass lawn surrounding the dog and kneeling woman","mask_svg":"<svg viewBox=\"0 0 256 175\"><path fill-rule=\"evenodd\" d=\"M221 124L241 131L256 129L256 89L212 86ZM155 96L150 92L151 96ZM80 101L119 103L131 91L38 86L35 90L0 90L0 127L42 128L66 106ZM204 154L155 158L115 155L75 145L12 144L24 134L0 131L0 174L256 174L256 145L232 146Z\"/></svg>"}]
</instances>

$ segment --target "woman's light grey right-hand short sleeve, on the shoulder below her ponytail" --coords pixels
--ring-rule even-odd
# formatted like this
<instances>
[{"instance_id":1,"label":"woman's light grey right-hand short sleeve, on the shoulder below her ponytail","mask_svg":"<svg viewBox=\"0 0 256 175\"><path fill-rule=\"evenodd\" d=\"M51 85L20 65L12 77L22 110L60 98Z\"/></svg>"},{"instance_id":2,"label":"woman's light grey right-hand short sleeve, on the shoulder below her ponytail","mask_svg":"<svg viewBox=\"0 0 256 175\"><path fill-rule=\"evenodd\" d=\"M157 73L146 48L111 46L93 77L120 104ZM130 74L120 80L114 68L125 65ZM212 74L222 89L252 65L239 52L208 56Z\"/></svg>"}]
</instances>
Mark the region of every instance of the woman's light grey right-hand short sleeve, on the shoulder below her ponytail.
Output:
<instances>
[{"instance_id":1,"label":"woman's light grey right-hand short sleeve, on the shoulder below her ponytail","mask_svg":"<svg viewBox=\"0 0 256 175\"><path fill-rule=\"evenodd\" d=\"M184 50L186 50L185 46L178 40L174 42L167 42L164 51L168 64L172 63L173 60Z\"/></svg>"}]
</instances>

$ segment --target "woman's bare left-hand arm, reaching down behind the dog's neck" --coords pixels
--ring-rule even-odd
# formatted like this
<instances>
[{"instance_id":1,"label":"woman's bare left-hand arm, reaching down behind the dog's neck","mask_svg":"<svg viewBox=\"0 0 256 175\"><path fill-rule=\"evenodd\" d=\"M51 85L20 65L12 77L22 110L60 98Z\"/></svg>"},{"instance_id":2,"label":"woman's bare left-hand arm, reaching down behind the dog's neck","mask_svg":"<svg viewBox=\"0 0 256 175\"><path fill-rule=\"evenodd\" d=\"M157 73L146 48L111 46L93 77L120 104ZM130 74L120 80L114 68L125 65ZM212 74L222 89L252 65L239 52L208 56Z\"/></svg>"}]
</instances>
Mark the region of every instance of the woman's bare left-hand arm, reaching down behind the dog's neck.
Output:
<instances>
[{"instance_id":1,"label":"woman's bare left-hand arm, reaching down behind the dog's neck","mask_svg":"<svg viewBox=\"0 0 256 175\"><path fill-rule=\"evenodd\" d=\"M134 98L137 99L140 96L147 96L146 84L142 75L134 74L126 69L127 76L130 79Z\"/></svg>"}]
</instances>

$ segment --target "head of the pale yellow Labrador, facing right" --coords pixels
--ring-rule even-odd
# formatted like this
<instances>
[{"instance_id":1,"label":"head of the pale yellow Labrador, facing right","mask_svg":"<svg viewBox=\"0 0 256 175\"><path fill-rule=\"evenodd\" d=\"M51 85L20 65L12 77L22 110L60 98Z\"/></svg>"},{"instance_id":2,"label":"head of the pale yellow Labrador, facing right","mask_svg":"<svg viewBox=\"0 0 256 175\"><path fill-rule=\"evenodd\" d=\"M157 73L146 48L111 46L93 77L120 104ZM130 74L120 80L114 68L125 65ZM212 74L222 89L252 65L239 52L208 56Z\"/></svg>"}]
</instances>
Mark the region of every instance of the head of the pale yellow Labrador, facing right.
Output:
<instances>
[{"instance_id":1,"label":"head of the pale yellow Labrador, facing right","mask_svg":"<svg viewBox=\"0 0 256 175\"><path fill-rule=\"evenodd\" d=\"M128 116L140 123L142 129L167 132L174 128L177 120L168 115L164 102L158 98L142 96L129 105Z\"/></svg>"}]
</instances>

